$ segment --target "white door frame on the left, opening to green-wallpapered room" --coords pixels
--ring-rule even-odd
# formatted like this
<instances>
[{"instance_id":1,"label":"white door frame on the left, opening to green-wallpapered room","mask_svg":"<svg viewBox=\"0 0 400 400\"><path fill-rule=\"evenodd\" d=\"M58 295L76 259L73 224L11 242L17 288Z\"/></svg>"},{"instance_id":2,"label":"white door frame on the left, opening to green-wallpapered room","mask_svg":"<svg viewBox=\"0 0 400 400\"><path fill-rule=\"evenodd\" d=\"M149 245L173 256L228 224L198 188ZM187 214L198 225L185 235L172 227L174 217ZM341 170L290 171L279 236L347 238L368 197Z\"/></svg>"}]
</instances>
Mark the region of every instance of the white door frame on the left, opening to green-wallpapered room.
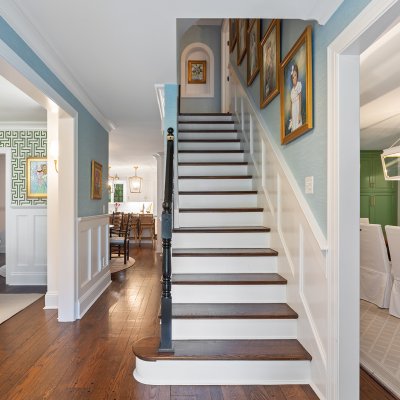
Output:
<instances>
[{"instance_id":1,"label":"white door frame on the left, opening to green-wallpapered room","mask_svg":"<svg viewBox=\"0 0 400 400\"><path fill-rule=\"evenodd\" d=\"M58 205L58 244L54 242L54 237L50 240L51 247L48 242L48 251L50 247L53 259L57 259L57 264L50 266L57 269L50 272L50 275L55 277L57 290L53 290L49 296L46 295L46 301L50 304L46 304L45 308L58 307L59 321L74 321L77 318L78 113L2 40L0 40L0 74L48 112L57 112L59 116L58 138L62 145L59 146L58 198L63 200L53 201L53 204ZM66 167L63 168L63 165ZM51 196L51 191L49 195ZM48 200L51 202L51 197Z\"/></svg>"}]
</instances>

